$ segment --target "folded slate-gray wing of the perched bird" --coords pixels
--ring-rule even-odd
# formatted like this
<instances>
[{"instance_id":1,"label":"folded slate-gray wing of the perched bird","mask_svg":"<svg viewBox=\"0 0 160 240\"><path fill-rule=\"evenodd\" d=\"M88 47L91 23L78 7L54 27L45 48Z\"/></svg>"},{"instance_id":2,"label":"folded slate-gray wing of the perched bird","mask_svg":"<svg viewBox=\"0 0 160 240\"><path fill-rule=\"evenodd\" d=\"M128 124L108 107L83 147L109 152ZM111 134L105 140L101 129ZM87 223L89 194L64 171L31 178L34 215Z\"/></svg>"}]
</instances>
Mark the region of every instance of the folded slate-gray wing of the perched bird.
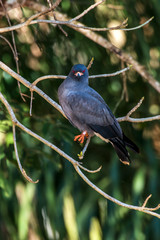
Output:
<instances>
[{"instance_id":1,"label":"folded slate-gray wing of the perched bird","mask_svg":"<svg viewBox=\"0 0 160 240\"><path fill-rule=\"evenodd\" d=\"M119 123L111 110L105 102L96 98L96 95L93 96L86 92L70 92L66 103L70 107L69 119L73 124L74 120L78 120L107 139L122 136Z\"/></svg>"}]
</instances>

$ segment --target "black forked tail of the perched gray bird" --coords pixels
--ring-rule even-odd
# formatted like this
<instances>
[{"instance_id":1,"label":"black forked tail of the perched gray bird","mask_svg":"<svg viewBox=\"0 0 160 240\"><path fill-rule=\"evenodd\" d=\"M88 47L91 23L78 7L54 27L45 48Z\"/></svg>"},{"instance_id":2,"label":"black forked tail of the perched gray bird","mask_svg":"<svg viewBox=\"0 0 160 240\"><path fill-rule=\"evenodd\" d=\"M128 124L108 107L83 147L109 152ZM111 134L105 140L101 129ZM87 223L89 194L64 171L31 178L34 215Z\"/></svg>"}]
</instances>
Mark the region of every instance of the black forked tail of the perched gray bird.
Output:
<instances>
[{"instance_id":1,"label":"black forked tail of the perched gray bird","mask_svg":"<svg viewBox=\"0 0 160 240\"><path fill-rule=\"evenodd\" d=\"M131 148L133 151L139 153L139 149L136 146L136 144L134 144L129 138L127 138L125 135L123 135L123 139L120 138L112 138L109 139L110 142L112 143L120 161L124 164L129 165L130 164L130 157L129 157L129 153L126 149L126 146Z\"/></svg>"}]
</instances>

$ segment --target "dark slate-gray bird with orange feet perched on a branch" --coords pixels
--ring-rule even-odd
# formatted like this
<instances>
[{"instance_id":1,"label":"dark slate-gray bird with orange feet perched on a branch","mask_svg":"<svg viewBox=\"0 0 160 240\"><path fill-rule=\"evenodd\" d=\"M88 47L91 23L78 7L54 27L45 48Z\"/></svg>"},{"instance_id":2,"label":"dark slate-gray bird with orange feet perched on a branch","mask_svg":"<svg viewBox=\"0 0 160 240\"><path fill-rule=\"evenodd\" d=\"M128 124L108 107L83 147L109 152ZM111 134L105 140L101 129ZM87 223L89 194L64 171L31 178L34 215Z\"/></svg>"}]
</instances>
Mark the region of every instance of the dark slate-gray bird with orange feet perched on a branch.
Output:
<instances>
[{"instance_id":1,"label":"dark slate-gray bird with orange feet perched on a branch","mask_svg":"<svg viewBox=\"0 0 160 240\"><path fill-rule=\"evenodd\" d=\"M126 146L139 152L128 139L103 98L88 86L88 69L83 64L74 65L58 89L60 105L73 126L82 133L74 141L84 142L88 136L98 135L109 141L120 161L130 163Z\"/></svg>"}]
</instances>

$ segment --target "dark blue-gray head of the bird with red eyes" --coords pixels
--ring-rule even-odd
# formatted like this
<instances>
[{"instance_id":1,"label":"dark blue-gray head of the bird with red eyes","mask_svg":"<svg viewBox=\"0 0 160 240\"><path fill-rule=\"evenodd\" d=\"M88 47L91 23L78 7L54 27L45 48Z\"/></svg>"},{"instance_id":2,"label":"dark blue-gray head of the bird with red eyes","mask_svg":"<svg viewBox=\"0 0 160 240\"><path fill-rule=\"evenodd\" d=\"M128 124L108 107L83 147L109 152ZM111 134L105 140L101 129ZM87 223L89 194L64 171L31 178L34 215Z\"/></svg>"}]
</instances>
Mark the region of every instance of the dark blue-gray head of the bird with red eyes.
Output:
<instances>
[{"instance_id":1,"label":"dark blue-gray head of the bird with red eyes","mask_svg":"<svg viewBox=\"0 0 160 240\"><path fill-rule=\"evenodd\" d=\"M88 83L88 69L83 64L74 65L69 76L74 80L86 81Z\"/></svg>"}]
</instances>

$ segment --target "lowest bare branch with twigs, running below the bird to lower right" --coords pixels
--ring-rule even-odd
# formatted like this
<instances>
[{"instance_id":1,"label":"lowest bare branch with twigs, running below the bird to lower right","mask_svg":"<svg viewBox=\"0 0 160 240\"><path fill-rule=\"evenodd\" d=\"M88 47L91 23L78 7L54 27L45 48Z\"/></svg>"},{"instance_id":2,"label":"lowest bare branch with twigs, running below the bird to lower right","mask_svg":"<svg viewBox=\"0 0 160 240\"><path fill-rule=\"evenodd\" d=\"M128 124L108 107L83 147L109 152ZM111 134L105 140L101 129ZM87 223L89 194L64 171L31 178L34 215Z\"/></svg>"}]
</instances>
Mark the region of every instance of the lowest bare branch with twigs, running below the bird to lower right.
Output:
<instances>
[{"instance_id":1,"label":"lowest bare branch with twigs, running below the bird to lower right","mask_svg":"<svg viewBox=\"0 0 160 240\"><path fill-rule=\"evenodd\" d=\"M160 214L155 213L155 210L158 210L160 208L160 204L155 207L155 208L146 208L146 204L148 202L149 197L146 198L146 200L144 201L144 204L142 205L142 207L138 207L138 206L134 206L131 204L126 204L124 202L121 202L119 200L117 200L116 198L111 197L110 195L108 195L107 193L103 192L100 188L98 188L95 184L93 184L80 170L80 168L82 168L83 170L90 172L90 173L95 173L100 171L101 167L98 168L97 170L91 171L86 169L85 167L81 166L79 162L77 162L76 160L74 160L73 158L71 158L70 156L68 156L66 153L64 153L62 150L60 150L58 147L56 147L54 144L50 143L49 141L45 140L44 138L40 137L39 135L37 135L36 133L32 132L30 129L26 128L24 125L22 125L17 119L16 116L11 108L11 106L9 105L9 103L7 102L7 100L4 98L4 96L2 95L2 93L0 92L0 99L3 102L3 104L5 105L5 107L7 108L9 115L11 117L12 120L12 124L13 124L13 137L14 137L14 146L15 146L15 152L16 152L16 158L18 161L18 165L19 168L21 170L21 173L23 174L23 176L30 182L33 183L37 183L37 181L33 181L30 177L27 176L25 170L21 167L21 163L18 157L18 151L17 151L17 146L16 146L16 138L15 138L15 126L21 128L24 132L28 133L29 135L33 136L34 138L38 139L39 141L41 141L42 143L44 143L45 145L49 146L50 148L52 148L53 150L55 150L57 153L59 153L61 156L63 156L65 159L67 159L68 161L70 161L72 163L72 165L74 166L76 172L79 174L79 176L90 186L92 187L96 192L98 192L100 195L102 195L104 198L122 206L125 208L129 208L132 210L136 210L136 211L140 211L140 212L144 212L148 215L152 215L155 216L157 218L160 219Z\"/></svg>"}]
</instances>

